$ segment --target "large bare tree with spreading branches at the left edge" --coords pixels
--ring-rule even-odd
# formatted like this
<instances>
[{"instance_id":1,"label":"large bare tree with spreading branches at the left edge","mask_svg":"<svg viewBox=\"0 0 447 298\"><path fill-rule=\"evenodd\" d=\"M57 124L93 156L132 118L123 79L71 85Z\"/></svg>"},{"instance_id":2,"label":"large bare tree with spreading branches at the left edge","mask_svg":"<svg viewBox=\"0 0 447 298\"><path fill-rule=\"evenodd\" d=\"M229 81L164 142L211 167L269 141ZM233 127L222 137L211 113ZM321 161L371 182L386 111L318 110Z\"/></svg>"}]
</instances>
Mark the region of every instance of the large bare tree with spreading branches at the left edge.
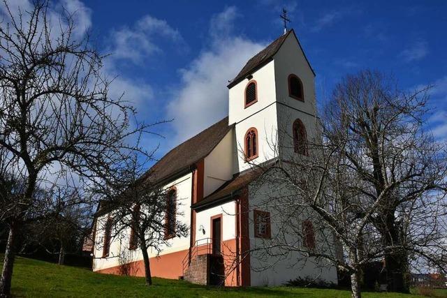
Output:
<instances>
[{"instance_id":1,"label":"large bare tree with spreading branches at the left edge","mask_svg":"<svg viewBox=\"0 0 447 298\"><path fill-rule=\"evenodd\" d=\"M2 193L0 219L9 237L0 297L10 295L17 235L47 175L64 169L82 185L100 183L114 174L125 152L140 150L129 139L146 129L130 125L134 111L128 103L108 96L103 57L88 38L75 40L72 15L50 23L47 1L34 1L31 11L18 15L8 3L3 6L0 149L8 167L2 179L20 177L24 183ZM90 198L83 200L91 204Z\"/></svg>"}]
</instances>

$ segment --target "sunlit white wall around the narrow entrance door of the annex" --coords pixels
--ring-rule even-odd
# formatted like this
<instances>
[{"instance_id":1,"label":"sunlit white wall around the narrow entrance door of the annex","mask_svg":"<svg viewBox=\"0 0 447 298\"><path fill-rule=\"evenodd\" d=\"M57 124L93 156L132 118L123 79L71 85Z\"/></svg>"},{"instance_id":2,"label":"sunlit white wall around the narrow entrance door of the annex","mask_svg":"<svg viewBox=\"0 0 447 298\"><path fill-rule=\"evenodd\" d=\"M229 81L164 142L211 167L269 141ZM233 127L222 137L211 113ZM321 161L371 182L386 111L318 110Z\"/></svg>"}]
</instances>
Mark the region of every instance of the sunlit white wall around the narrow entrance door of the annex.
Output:
<instances>
[{"instance_id":1,"label":"sunlit white wall around the narrow entrance door of the annex","mask_svg":"<svg viewBox=\"0 0 447 298\"><path fill-rule=\"evenodd\" d=\"M226 202L210 209L199 211L196 214L196 240L211 238L211 218L222 214L222 241L235 239L236 237L236 203ZM200 230L200 225L205 228L205 234ZM199 243L200 244L200 243Z\"/></svg>"}]
</instances>

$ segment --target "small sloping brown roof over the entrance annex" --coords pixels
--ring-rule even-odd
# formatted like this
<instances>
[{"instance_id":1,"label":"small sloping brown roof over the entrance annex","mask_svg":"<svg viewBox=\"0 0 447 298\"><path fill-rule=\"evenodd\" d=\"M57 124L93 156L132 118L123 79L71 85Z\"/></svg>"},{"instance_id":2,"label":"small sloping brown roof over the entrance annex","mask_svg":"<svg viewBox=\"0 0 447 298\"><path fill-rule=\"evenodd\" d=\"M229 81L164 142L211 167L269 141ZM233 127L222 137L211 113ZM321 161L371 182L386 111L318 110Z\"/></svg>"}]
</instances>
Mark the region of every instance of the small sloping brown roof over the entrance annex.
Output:
<instances>
[{"instance_id":1,"label":"small sloping brown roof over the entrance annex","mask_svg":"<svg viewBox=\"0 0 447 298\"><path fill-rule=\"evenodd\" d=\"M237 174L233 179L226 181L221 187L217 188L214 193L203 198L200 202L193 204L193 209L204 207L207 204L212 204L220 199L233 198L242 188L254 181L261 174L261 170L251 170L242 174Z\"/></svg>"}]
</instances>

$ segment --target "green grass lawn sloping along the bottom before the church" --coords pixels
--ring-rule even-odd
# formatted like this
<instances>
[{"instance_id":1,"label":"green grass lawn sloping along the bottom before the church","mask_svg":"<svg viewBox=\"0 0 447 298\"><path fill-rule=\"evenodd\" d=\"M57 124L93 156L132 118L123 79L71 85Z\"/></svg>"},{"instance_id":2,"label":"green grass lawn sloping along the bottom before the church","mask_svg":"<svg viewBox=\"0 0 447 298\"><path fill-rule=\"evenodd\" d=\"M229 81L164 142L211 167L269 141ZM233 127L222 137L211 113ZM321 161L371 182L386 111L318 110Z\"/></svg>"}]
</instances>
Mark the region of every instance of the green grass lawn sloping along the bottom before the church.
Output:
<instances>
[{"instance_id":1,"label":"green grass lawn sloping along the bottom before the church","mask_svg":"<svg viewBox=\"0 0 447 298\"><path fill-rule=\"evenodd\" d=\"M0 255L1 260L3 256ZM442 292L439 292L442 297ZM444 292L447 297L447 292ZM87 269L58 266L17 258L13 276L14 297L350 297L346 290L313 288L212 288L186 281L154 278L147 288L144 278L96 274ZM417 295L365 292L362 297L416 298Z\"/></svg>"}]
</instances>

